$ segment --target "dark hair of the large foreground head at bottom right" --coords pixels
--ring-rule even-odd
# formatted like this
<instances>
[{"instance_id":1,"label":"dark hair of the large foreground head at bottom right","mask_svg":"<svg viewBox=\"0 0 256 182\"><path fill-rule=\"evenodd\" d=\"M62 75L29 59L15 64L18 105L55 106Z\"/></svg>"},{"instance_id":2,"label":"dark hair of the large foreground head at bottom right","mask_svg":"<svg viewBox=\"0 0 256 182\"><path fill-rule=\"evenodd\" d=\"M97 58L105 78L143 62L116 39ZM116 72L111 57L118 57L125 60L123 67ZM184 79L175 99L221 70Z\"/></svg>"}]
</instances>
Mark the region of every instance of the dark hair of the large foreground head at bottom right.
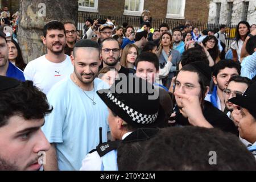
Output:
<instances>
[{"instance_id":1,"label":"dark hair of the large foreground head at bottom right","mask_svg":"<svg viewBox=\"0 0 256 182\"><path fill-rule=\"evenodd\" d=\"M137 170L255 170L256 161L233 134L185 126L160 129L148 140ZM217 155L216 164L211 159Z\"/></svg>"}]
</instances>

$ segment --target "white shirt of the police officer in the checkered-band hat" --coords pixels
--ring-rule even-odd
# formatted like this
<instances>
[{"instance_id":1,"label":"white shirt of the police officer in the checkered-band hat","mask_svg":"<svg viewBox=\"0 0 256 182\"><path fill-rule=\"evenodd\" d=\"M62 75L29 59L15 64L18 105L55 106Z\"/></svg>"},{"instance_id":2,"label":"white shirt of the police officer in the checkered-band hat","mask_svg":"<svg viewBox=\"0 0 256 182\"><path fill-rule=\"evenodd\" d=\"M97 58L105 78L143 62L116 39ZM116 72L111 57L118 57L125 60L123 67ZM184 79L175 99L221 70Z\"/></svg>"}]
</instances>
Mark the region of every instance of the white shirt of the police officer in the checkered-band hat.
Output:
<instances>
[{"instance_id":1,"label":"white shirt of the police officer in the checkered-band hat","mask_svg":"<svg viewBox=\"0 0 256 182\"><path fill-rule=\"evenodd\" d=\"M122 140L125 139L132 132L123 135ZM101 171L102 160L97 151L87 154L85 159L82 160L82 167L80 171Z\"/></svg>"}]
</instances>

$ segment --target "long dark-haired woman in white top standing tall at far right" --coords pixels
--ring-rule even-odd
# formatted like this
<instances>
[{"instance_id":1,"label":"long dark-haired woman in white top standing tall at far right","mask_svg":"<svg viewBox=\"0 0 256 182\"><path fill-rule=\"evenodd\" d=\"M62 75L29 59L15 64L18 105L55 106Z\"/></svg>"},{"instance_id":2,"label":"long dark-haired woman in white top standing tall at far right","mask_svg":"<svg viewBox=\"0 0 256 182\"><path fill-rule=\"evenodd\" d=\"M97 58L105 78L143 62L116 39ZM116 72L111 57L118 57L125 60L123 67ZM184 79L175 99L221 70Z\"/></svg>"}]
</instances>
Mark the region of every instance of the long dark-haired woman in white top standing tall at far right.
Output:
<instances>
[{"instance_id":1,"label":"long dark-haired woman in white top standing tall at far right","mask_svg":"<svg viewBox=\"0 0 256 182\"><path fill-rule=\"evenodd\" d=\"M236 29L236 40L230 44L234 61L240 61L243 42L248 34L250 34L250 24L246 21L239 22Z\"/></svg>"}]
</instances>

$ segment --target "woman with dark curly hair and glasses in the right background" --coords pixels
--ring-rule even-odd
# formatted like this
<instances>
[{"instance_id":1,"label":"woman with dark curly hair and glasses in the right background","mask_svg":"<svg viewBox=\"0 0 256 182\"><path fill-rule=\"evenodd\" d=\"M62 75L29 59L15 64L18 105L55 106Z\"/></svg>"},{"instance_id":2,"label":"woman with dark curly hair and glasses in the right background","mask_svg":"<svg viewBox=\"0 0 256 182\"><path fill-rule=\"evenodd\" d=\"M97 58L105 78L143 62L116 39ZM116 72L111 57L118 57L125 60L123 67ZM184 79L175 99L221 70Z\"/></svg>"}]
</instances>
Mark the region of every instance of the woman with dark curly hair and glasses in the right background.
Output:
<instances>
[{"instance_id":1,"label":"woman with dark curly hair and glasses in the right background","mask_svg":"<svg viewBox=\"0 0 256 182\"><path fill-rule=\"evenodd\" d=\"M212 57L214 63L217 63L220 61L220 51L218 49L218 39L214 35L208 35L204 40L203 40L203 45L209 52L209 55L207 56ZM207 52L206 52L207 53Z\"/></svg>"}]
</instances>

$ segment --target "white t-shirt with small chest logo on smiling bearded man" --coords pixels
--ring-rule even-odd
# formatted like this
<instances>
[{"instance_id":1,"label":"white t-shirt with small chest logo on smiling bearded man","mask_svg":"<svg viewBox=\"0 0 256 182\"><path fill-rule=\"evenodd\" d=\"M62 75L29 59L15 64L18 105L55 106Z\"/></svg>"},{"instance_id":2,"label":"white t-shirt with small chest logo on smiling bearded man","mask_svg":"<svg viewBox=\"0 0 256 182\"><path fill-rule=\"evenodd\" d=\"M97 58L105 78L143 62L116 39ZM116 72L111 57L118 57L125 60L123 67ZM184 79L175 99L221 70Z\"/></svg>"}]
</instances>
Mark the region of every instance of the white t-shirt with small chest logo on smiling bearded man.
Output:
<instances>
[{"instance_id":1,"label":"white t-shirt with small chest logo on smiling bearded man","mask_svg":"<svg viewBox=\"0 0 256 182\"><path fill-rule=\"evenodd\" d=\"M52 63L46 59L46 55L43 55L27 64L24 76L26 80L33 81L35 86L47 94L56 82L69 76L73 70L74 68L68 55L61 63Z\"/></svg>"}]
</instances>

